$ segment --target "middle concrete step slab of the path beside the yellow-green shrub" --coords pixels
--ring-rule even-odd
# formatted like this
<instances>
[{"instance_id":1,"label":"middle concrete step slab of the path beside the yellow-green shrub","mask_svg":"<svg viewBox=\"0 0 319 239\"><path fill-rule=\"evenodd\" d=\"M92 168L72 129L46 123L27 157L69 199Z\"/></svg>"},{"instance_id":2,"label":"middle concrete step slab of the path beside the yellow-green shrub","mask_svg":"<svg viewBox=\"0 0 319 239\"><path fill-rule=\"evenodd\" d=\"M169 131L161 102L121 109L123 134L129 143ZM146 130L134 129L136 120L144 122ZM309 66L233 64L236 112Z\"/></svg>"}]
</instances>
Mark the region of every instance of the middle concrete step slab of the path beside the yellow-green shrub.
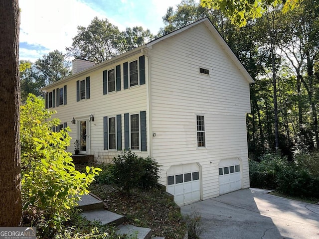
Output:
<instances>
[{"instance_id":1,"label":"middle concrete step slab of the path beside the yellow-green shrub","mask_svg":"<svg viewBox=\"0 0 319 239\"><path fill-rule=\"evenodd\" d=\"M124 216L104 210L103 208L85 211L81 213L81 216L91 222L99 221L102 225L114 224L118 226L122 224L125 220Z\"/></svg>"}]
</instances>

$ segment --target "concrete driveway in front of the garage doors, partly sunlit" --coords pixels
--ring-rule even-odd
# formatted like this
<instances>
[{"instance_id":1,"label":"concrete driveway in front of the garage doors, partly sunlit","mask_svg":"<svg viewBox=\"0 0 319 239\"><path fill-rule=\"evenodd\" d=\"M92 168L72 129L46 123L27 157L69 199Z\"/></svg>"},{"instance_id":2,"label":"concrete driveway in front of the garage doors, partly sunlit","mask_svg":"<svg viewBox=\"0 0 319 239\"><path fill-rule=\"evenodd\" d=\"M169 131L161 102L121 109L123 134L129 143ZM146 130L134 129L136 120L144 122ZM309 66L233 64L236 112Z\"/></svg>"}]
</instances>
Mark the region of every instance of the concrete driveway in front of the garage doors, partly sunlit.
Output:
<instances>
[{"instance_id":1,"label":"concrete driveway in front of the garage doors, partly sunlit","mask_svg":"<svg viewBox=\"0 0 319 239\"><path fill-rule=\"evenodd\" d=\"M201 239L319 239L319 205L243 189L181 207L199 212Z\"/></svg>"}]
</instances>

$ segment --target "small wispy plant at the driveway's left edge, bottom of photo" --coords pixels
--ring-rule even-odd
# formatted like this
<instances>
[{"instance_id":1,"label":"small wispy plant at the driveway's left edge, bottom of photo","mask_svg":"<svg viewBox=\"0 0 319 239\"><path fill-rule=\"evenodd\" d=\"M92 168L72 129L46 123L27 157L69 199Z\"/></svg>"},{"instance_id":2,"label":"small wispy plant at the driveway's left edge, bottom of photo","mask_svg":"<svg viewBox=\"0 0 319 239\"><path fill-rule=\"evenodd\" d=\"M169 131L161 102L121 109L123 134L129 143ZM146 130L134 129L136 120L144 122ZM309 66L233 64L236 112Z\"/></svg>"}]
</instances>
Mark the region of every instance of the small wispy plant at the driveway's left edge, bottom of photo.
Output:
<instances>
[{"instance_id":1,"label":"small wispy plant at the driveway's left edge, bottom of photo","mask_svg":"<svg viewBox=\"0 0 319 239\"><path fill-rule=\"evenodd\" d=\"M200 239L199 236L203 233L204 228L199 212L192 208L191 214L185 215L183 218L186 222L188 239Z\"/></svg>"}]
</instances>

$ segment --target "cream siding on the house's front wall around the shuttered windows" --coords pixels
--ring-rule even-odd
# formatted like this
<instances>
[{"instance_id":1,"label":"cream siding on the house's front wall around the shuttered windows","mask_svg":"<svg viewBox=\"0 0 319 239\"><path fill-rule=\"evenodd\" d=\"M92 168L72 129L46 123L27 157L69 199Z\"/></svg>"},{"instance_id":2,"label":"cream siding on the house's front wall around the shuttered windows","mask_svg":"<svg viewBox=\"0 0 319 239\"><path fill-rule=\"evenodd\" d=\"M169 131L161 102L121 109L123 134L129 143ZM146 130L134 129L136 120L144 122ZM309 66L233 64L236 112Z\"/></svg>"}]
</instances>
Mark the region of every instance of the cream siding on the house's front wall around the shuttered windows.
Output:
<instances>
[{"instance_id":1,"label":"cream siding on the house's front wall around the shuttered windows","mask_svg":"<svg viewBox=\"0 0 319 239\"><path fill-rule=\"evenodd\" d=\"M75 119L89 119L91 114L94 116L94 121L89 122L90 137L87 140L90 140L90 153L94 154L95 159L101 162L110 162L114 156L117 156L120 153L120 151L116 150L103 149L103 117L122 116L122 148L124 148L124 114L140 114L141 111L147 111L147 84L134 86L125 90L123 88L123 63L135 59L138 60L140 55L141 54L126 58L121 62L116 62L90 73L84 73L67 83L63 83L63 85L67 85L67 105L54 108L53 110L56 110L58 113L53 117L59 118L61 122L67 122L67 125L72 130L69 132L72 137L71 145L67 147L67 151L74 152L74 140L77 131L77 124L71 124L71 119L73 117ZM119 64L121 64L121 91L103 95L103 70L114 69L116 65ZM88 76L90 76L90 99L84 99L77 102L76 81L84 80ZM63 87L63 85L55 85L54 88ZM48 88L47 91L49 92L54 88ZM149 129L147 129L147 132L149 132ZM147 138L149 138L149 135L147 135ZM147 143L147 145L149 148L149 143ZM141 156L150 155L148 151L137 151L137 153Z\"/></svg>"}]
</instances>

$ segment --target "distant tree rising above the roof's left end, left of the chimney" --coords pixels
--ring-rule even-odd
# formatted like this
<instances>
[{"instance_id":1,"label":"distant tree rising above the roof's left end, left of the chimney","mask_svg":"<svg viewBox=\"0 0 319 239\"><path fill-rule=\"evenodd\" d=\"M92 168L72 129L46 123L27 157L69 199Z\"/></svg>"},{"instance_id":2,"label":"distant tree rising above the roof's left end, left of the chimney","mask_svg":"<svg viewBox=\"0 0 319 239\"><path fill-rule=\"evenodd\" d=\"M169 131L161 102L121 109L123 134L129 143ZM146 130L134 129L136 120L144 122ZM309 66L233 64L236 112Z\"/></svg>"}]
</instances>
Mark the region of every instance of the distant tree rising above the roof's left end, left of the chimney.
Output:
<instances>
[{"instance_id":1,"label":"distant tree rising above the roof's left end, left of the chimney","mask_svg":"<svg viewBox=\"0 0 319 239\"><path fill-rule=\"evenodd\" d=\"M36 82L40 85L42 82L49 85L61 80L71 75L70 65L62 52L58 50L49 52L34 63Z\"/></svg>"}]
</instances>

